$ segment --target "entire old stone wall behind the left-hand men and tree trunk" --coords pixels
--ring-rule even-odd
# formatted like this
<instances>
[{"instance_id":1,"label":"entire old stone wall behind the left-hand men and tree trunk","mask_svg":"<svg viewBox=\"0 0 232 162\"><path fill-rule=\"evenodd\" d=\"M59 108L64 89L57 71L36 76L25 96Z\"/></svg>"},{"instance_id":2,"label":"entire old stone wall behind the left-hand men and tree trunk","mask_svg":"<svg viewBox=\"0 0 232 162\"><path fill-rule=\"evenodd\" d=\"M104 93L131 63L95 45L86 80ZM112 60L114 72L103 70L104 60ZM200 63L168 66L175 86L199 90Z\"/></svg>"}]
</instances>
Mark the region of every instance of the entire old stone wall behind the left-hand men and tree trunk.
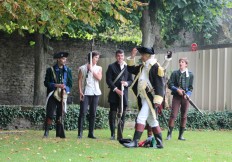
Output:
<instances>
[{"instance_id":1,"label":"entire old stone wall behind the left-hand men and tree trunk","mask_svg":"<svg viewBox=\"0 0 232 162\"><path fill-rule=\"evenodd\" d=\"M29 45L29 42L33 40L34 37L30 35L22 37L18 34L0 33L0 105L33 104L35 49ZM50 40L48 43L46 67L55 63L53 53L59 51L70 53L67 65L72 69L73 75L73 88L69 100L71 103L79 103L77 72L78 68L86 62L86 56L91 51L91 44L91 41L66 38L59 41ZM125 49L129 53L133 46L132 44L95 41L93 50L98 50L101 57L114 57L117 48ZM46 91L45 87L44 91ZM44 103L45 99L46 96L44 96Z\"/></svg>"}]
</instances>

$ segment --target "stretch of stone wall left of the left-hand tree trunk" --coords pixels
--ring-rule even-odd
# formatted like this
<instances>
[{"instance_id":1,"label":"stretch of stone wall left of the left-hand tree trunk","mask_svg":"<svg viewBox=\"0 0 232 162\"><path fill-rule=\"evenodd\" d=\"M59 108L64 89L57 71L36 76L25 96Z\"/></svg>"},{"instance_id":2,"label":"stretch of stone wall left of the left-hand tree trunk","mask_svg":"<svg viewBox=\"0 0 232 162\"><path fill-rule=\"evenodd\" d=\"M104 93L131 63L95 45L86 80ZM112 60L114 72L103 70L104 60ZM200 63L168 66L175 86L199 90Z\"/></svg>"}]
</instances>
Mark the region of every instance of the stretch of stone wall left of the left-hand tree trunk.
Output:
<instances>
[{"instance_id":1,"label":"stretch of stone wall left of the left-hand tree trunk","mask_svg":"<svg viewBox=\"0 0 232 162\"><path fill-rule=\"evenodd\" d=\"M0 36L0 104L32 103L34 61L29 39Z\"/></svg>"}]
</instances>

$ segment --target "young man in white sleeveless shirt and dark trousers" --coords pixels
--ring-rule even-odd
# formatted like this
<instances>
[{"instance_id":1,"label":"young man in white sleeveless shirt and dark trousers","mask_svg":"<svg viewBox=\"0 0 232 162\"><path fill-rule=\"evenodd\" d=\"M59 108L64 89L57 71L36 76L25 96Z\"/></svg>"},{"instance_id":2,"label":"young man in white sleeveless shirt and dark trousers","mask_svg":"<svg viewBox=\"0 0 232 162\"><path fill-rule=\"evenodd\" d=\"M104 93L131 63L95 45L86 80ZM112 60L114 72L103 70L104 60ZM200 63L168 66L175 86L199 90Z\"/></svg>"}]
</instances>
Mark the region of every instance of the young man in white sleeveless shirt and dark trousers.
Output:
<instances>
[{"instance_id":1,"label":"young man in white sleeveless shirt and dark trousers","mask_svg":"<svg viewBox=\"0 0 232 162\"><path fill-rule=\"evenodd\" d=\"M100 53L92 51L88 54L88 63L82 65L78 72L78 85L80 94L80 113L78 118L78 138L82 138L83 124L89 106L89 134L88 138L96 139L94 136L96 109L98 106L101 90L99 81L102 79L102 67L97 65Z\"/></svg>"}]
</instances>

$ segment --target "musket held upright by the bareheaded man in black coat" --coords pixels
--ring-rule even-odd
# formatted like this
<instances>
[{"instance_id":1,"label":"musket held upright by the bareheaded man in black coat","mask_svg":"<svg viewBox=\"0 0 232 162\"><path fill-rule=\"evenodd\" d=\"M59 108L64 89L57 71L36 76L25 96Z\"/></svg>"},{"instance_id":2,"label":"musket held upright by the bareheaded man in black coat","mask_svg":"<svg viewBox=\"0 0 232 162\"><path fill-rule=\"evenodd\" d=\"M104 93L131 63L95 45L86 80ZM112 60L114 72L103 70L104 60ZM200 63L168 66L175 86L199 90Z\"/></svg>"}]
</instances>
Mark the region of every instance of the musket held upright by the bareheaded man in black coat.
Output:
<instances>
[{"instance_id":1,"label":"musket held upright by the bareheaded man in black coat","mask_svg":"<svg viewBox=\"0 0 232 162\"><path fill-rule=\"evenodd\" d=\"M118 113L118 131L117 131L117 138L118 140L123 138L122 132L123 132L123 121L122 121L122 115L123 115L123 91L124 91L124 86L123 84L121 84L121 91L122 91L122 95L121 95L121 103L120 103L120 111Z\"/></svg>"}]
</instances>

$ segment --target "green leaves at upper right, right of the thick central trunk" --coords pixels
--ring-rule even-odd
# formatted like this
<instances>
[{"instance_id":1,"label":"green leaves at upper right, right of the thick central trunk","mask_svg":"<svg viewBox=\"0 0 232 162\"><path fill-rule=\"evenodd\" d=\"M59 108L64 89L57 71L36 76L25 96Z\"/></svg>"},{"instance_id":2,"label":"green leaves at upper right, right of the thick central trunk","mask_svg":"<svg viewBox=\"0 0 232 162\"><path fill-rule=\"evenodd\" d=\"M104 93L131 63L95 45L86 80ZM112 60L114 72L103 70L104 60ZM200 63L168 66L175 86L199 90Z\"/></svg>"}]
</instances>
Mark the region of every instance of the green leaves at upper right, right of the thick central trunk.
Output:
<instances>
[{"instance_id":1,"label":"green leaves at upper right, right of the thick central trunk","mask_svg":"<svg viewBox=\"0 0 232 162\"><path fill-rule=\"evenodd\" d=\"M181 30L201 33L210 39L217 33L218 19L226 5L224 0L165 0L157 2L157 21L163 39L171 44Z\"/></svg>"}]
</instances>

